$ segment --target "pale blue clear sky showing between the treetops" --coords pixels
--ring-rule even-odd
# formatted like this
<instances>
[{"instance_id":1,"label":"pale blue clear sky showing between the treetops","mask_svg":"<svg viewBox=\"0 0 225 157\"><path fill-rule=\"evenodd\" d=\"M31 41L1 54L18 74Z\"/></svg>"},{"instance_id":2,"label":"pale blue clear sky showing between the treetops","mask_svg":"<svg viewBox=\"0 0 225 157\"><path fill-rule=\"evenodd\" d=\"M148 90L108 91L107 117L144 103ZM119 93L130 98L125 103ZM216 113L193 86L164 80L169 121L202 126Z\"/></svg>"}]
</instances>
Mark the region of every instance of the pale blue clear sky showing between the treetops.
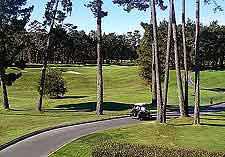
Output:
<instances>
[{"instance_id":1,"label":"pale blue clear sky showing between the treetops","mask_svg":"<svg viewBox=\"0 0 225 157\"><path fill-rule=\"evenodd\" d=\"M34 11L31 16L31 21L38 20L43 21L45 5L48 0L27 0L27 6L34 5ZM89 9L84 4L87 4L89 0L73 0L73 11L71 16L66 19L66 23L72 23L78 26L78 30L84 30L89 32L96 29L96 19ZM124 34L130 31L139 30L143 33L143 29L140 26L141 22L149 23L150 10L138 11L132 10L127 13L123 10L123 7L115 5L112 0L103 0L103 10L108 11L108 16L103 19L102 29L103 32L117 34ZM195 0L186 0L186 14L187 18L194 20L195 18ZM165 1L168 5L168 1ZM175 0L177 23L181 22L181 0ZM225 9L225 0L217 0ZM225 25L225 11L213 12L213 5L205 5L201 3L201 23L209 24L212 21L217 20L219 24ZM157 9L158 22L163 19L168 19L169 9L161 11Z\"/></svg>"}]
</instances>

